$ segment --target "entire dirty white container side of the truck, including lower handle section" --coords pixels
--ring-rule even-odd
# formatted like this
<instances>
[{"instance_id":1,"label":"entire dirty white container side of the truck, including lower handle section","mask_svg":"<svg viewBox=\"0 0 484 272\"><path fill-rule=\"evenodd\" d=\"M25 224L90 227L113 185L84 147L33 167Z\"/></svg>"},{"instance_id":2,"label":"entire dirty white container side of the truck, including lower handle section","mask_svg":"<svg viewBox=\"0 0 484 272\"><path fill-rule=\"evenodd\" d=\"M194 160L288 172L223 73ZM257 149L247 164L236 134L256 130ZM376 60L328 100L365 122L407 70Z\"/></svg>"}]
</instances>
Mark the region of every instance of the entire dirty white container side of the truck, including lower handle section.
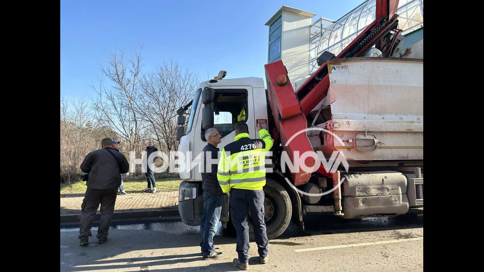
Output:
<instances>
[{"instance_id":1,"label":"entire dirty white container side of the truck, including lower handle section","mask_svg":"<svg viewBox=\"0 0 484 272\"><path fill-rule=\"evenodd\" d=\"M322 143L309 133L312 146L324 155L341 151L350 161L422 160L423 60L349 58L328 64L331 121L316 127L330 126L343 144ZM356 149L355 139L365 133L376 144Z\"/></svg>"}]
</instances>

